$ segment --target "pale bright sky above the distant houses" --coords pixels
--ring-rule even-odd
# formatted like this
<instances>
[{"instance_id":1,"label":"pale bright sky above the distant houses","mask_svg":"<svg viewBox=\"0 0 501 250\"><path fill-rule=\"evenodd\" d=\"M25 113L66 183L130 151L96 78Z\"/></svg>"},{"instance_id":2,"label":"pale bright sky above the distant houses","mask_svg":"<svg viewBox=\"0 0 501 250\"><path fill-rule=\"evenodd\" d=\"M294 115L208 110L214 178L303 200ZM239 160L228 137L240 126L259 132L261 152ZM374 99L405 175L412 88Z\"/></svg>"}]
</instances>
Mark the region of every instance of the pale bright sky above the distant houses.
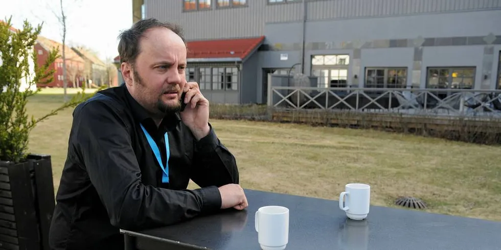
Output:
<instances>
[{"instance_id":1,"label":"pale bright sky above the distant houses","mask_svg":"<svg viewBox=\"0 0 501 250\"><path fill-rule=\"evenodd\" d=\"M62 0L66 12L66 44L83 45L101 60L118 56L118 35L132 25L130 0ZM43 21L40 36L62 43L60 0L0 0L0 18L12 16L14 28L24 20L36 27Z\"/></svg>"}]
</instances>

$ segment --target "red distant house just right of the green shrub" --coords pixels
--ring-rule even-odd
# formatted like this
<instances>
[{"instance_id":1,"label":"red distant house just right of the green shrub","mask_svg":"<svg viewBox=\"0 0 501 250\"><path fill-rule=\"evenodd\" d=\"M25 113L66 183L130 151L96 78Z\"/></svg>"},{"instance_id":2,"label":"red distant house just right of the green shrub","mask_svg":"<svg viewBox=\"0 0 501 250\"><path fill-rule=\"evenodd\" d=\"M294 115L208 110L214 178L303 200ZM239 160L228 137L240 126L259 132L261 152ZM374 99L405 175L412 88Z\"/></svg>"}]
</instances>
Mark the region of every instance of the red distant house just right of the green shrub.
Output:
<instances>
[{"instance_id":1,"label":"red distant house just right of the green shrub","mask_svg":"<svg viewBox=\"0 0 501 250\"><path fill-rule=\"evenodd\" d=\"M63 76L63 59L62 59L62 44L54 40L38 36L35 49L38 54L38 64L41 65L47 60L49 51L54 48L59 48L59 58L49 67L55 69L54 79L48 84L37 84L37 87L63 87L63 82L66 81L67 87L78 88L84 82L85 60L80 57L73 49L66 45L64 54L66 57L66 76Z\"/></svg>"}]
</instances>

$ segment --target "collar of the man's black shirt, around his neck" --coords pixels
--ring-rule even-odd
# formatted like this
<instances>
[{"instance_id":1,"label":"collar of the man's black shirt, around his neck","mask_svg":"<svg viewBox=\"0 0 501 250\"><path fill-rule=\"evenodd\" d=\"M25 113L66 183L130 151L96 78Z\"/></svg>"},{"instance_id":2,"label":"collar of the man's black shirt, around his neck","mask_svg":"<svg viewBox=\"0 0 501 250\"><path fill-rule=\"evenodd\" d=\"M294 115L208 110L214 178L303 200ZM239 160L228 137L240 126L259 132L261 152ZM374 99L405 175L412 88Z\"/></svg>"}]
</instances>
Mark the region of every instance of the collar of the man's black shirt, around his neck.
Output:
<instances>
[{"instance_id":1,"label":"collar of the man's black shirt, around his neck","mask_svg":"<svg viewBox=\"0 0 501 250\"><path fill-rule=\"evenodd\" d=\"M143 106L141 106L141 104L139 104L138 101L134 99L134 97L132 97L132 95L129 93L129 90L127 89L127 86L125 86L125 83L123 83L121 87L125 89L124 90L125 96L127 102L130 105L130 109L134 119L139 123L150 123L150 122L152 123L153 118L150 115L148 115L146 109ZM164 126L170 130L170 128L176 127L177 123L179 123L180 121L181 118L179 116L179 113L176 112L174 114L167 114L162 119L162 123L160 124L159 127ZM146 126L146 124L144 124L144 126Z\"/></svg>"}]
</instances>

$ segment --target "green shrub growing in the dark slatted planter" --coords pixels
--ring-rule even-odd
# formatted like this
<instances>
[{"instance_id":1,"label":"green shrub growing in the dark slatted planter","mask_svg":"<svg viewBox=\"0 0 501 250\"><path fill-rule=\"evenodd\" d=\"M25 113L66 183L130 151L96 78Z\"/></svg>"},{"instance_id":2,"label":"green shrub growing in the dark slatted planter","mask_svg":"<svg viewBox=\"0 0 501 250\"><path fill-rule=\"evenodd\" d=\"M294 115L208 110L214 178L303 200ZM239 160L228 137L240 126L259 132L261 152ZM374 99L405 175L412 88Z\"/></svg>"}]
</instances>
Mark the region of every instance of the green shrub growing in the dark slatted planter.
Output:
<instances>
[{"instance_id":1,"label":"green shrub growing in the dark slatted planter","mask_svg":"<svg viewBox=\"0 0 501 250\"><path fill-rule=\"evenodd\" d=\"M58 111L75 107L90 96L83 91L49 114L35 119L26 113L27 98L40 90L33 86L52 82L52 63L58 58L58 49L50 51L43 65L37 64L34 49L42 26L33 28L28 21L22 30L12 31L11 20L0 21L0 160L21 162L26 158L28 136L36 124Z\"/></svg>"}]
</instances>

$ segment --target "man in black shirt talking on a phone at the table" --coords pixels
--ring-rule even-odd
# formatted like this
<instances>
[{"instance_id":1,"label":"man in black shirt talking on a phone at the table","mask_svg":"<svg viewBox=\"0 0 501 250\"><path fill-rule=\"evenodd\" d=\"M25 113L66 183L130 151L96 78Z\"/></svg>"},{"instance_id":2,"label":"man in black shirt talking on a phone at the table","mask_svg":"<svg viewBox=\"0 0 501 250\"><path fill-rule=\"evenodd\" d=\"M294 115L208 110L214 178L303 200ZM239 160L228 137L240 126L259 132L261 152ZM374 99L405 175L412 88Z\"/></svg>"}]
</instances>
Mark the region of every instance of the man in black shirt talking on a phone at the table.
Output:
<instances>
[{"instance_id":1,"label":"man in black shirt talking on a phone at the table","mask_svg":"<svg viewBox=\"0 0 501 250\"><path fill-rule=\"evenodd\" d=\"M74 111L53 249L123 249L119 229L247 207L235 158L209 123L209 102L186 82L179 29L141 20L121 34L118 49L125 84ZM186 190L190 179L201 188Z\"/></svg>"}]
</instances>

